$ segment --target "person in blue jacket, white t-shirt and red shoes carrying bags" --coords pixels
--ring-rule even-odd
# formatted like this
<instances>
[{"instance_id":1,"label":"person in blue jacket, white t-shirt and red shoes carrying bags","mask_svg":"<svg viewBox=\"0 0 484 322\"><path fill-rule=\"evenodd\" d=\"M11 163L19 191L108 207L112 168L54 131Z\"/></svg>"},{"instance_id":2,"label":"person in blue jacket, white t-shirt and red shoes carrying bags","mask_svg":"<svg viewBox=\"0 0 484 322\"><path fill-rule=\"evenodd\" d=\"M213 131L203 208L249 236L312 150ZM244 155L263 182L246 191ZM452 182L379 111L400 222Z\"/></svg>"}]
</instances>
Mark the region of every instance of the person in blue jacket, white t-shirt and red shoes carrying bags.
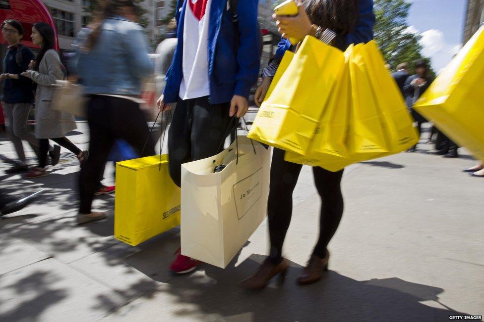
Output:
<instances>
[{"instance_id":1,"label":"person in blue jacket, white t-shirt and red shoes carrying bags","mask_svg":"<svg viewBox=\"0 0 484 322\"><path fill-rule=\"evenodd\" d=\"M247 111L259 72L257 2L178 1L177 50L157 102L161 111L177 102L168 150L170 176L178 186L182 163L219 153ZM179 250L170 269L184 274L199 264Z\"/></svg>"}]
</instances>

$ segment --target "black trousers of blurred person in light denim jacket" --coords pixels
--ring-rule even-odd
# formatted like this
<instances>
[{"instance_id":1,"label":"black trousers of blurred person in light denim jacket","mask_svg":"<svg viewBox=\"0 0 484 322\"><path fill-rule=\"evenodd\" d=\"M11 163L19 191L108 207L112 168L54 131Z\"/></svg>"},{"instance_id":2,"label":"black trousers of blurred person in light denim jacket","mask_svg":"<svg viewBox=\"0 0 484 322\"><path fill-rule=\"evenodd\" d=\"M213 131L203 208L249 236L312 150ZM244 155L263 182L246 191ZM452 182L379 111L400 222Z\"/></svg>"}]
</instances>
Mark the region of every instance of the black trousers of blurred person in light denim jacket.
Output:
<instances>
[{"instance_id":1,"label":"black trousers of blurred person in light denim jacket","mask_svg":"<svg viewBox=\"0 0 484 322\"><path fill-rule=\"evenodd\" d=\"M91 135L89 158L79 175L79 212L83 214L91 213L94 192L99 188L109 152L117 139L124 139L141 157L155 155L155 142L137 103L123 98L91 95L87 121Z\"/></svg>"}]
</instances>

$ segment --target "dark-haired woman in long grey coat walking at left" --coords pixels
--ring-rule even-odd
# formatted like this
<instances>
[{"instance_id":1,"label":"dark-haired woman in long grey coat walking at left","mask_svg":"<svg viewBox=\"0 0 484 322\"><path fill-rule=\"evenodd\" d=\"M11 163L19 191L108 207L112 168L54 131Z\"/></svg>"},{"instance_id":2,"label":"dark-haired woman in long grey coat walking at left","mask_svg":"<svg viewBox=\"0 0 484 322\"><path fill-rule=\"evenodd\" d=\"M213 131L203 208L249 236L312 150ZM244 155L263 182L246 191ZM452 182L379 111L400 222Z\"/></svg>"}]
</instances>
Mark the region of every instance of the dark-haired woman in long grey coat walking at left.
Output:
<instances>
[{"instance_id":1,"label":"dark-haired woman in long grey coat walking at left","mask_svg":"<svg viewBox=\"0 0 484 322\"><path fill-rule=\"evenodd\" d=\"M25 178L38 178L47 175L47 153L49 139L74 153L80 162L85 160L84 152L74 145L65 135L76 129L74 117L52 108L54 96L53 84L65 78L65 68L59 54L54 49L54 30L45 22L38 22L32 27L32 42L41 47L35 59L29 64L29 70L22 76L37 83L35 99L35 136L39 139L39 167L25 175Z\"/></svg>"}]
</instances>

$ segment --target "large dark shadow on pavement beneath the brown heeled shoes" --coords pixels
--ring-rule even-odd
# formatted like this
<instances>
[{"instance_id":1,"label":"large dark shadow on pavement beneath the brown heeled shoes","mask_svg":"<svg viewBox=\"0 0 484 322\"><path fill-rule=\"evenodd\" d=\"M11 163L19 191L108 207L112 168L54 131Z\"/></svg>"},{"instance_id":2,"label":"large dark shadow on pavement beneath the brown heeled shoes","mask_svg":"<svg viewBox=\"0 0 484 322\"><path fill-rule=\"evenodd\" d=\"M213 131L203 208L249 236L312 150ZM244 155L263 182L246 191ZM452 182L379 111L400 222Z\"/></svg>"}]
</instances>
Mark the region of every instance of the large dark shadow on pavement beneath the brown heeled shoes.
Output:
<instances>
[{"instance_id":1,"label":"large dark shadow on pavement beneath the brown heeled shoes","mask_svg":"<svg viewBox=\"0 0 484 322\"><path fill-rule=\"evenodd\" d=\"M272 281L261 292L241 290L238 283L264 258L253 254L238 267L233 262L225 270L206 267L206 276L180 276L160 291L197 306L196 312L178 312L186 318L200 312L222 316L224 321L444 321L450 315L462 315L420 303L438 301L442 288L396 277L358 281L329 271L319 283L299 286L295 280L302 267L293 262L284 285Z\"/></svg>"}]
</instances>

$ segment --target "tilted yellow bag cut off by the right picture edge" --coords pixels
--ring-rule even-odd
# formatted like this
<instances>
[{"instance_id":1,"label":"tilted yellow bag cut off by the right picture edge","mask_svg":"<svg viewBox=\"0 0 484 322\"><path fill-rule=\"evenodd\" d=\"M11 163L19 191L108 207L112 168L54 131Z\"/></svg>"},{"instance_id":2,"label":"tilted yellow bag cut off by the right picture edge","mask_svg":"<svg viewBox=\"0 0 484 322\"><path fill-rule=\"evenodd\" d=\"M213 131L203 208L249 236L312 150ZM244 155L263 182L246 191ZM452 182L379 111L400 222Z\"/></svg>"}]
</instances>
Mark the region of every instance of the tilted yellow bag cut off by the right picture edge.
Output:
<instances>
[{"instance_id":1,"label":"tilted yellow bag cut off by the right picture edge","mask_svg":"<svg viewBox=\"0 0 484 322\"><path fill-rule=\"evenodd\" d=\"M484 160L484 27L433 81L414 108Z\"/></svg>"}]
</instances>

